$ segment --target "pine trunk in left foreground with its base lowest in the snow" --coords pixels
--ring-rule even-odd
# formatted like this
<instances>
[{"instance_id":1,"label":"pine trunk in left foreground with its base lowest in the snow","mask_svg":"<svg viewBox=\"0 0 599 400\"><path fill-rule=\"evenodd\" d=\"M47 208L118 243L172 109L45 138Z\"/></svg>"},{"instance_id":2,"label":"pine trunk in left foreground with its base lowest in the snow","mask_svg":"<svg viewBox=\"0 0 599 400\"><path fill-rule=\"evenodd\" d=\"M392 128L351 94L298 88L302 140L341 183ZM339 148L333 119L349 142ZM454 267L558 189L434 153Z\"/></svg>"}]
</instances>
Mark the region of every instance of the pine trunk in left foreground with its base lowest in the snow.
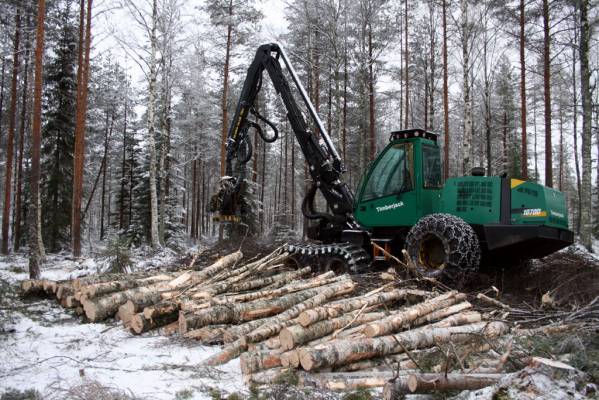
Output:
<instances>
[{"instance_id":1,"label":"pine trunk in left foreground with its base lowest in the snow","mask_svg":"<svg viewBox=\"0 0 599 400\"><path fill-rule=\"evenodd\" d=\"M46 13L45 0L38 0L37 29L35 44L35 83L33 91L33 127L31 129L31 171L29 210L29 277L39 279L40 263L43 254L41 244L40 209L40 153L42 136L42 78L44 55L44 19Z\"/></svg>"}]
</instances>

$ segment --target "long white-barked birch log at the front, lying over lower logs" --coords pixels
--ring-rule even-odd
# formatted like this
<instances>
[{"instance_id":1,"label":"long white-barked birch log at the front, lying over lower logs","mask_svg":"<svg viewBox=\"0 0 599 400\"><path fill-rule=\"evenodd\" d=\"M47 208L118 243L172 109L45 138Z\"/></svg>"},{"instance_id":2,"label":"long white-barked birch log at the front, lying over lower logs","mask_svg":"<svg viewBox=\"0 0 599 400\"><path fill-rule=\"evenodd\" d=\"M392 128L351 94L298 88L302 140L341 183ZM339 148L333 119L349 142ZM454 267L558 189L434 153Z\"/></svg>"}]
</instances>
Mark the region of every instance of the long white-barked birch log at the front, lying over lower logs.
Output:
<instances>
[{"instance_id":1,"label":"long white-barked birch log at the front, lying over lower logs","mask_svg":"<svg viewBox=\"0 0 599 400\"><path fill-rule=\"evenodd\" d=\"M472 335L496 337L509 330L502 322L477 323L450 328L419 328L396 335L352 340L336 340L316 348L300 348L300 362L306 371L337 367L367 358L427 348L452 341L461 343Z\"/></svg>"}]
</instances>

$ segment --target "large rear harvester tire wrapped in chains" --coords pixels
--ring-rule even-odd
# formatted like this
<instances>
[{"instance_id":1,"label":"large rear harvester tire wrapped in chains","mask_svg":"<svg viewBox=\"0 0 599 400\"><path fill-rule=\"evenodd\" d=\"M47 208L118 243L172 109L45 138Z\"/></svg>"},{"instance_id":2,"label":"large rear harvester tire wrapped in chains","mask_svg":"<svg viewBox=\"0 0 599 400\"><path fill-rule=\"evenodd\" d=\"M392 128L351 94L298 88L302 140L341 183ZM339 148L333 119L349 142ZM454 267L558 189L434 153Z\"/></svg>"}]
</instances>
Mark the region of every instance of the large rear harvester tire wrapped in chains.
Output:
<instances>
[{"instance_id":1,"label":"large rear harvester tire wrapped in chains","mask_svg":"<svg viewBox=\"0 0 599 400\"><path fill-rule=\"evenodd\" d=\"M480 244L470 225L451 214L422 217L410 229L406 251L420 272L463 284L480 264Z\"/></svg>"}]
</instances>

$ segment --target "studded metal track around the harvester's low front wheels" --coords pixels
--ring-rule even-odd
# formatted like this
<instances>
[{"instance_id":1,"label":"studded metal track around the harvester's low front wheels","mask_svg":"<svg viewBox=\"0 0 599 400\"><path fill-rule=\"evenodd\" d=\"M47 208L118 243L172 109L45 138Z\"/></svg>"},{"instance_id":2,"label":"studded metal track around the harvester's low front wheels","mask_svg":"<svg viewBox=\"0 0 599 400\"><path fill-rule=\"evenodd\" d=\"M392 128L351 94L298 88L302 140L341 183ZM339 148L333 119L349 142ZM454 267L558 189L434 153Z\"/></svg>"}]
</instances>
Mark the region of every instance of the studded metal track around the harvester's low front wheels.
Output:
<instances>
[{"instance_id":1,"label":"studded metal track around the harvester's low front wheels","mask_svg":"<svg viewBox=\"0 0 599 400\"><path fill-rule=\"evenodd\" d=\"M284 251L291 256L297 256L302 261L312 261L320 265L322 269L323 258L339 257L343 259L348 272L359 274L366 272L370 266L371 258L366 251L351 243L333 243L333 244L287 244Z\"/></svg>"}]
</instances>

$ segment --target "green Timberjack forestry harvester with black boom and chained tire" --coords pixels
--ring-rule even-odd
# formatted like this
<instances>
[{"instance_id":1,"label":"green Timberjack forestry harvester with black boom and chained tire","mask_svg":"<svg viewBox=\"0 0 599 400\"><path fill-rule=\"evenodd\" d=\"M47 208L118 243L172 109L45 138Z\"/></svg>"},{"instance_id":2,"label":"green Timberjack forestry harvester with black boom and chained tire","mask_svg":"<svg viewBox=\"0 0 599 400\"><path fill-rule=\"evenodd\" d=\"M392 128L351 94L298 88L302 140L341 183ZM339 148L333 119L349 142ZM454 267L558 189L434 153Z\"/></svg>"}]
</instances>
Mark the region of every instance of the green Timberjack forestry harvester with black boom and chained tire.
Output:
<instances>
[{"instance_id":1,"label":"green Timberjack forestry harvester with black boom and chained tire","mask_svg":"<svg viewBox=\"0 0 599 400\"><path fill-rule=\"evenodd\" d=\"M288 245L289 252L318 257L325 268L360 272L373 261L401 255L405 248L424 274L455 279L480 265L540 258L573 242L563 193L535 182L484 176L482 168L443 183L437 135L422 129L391 132L389 144L371 163L354 196L342 180L339 153L277 44L260 46L248 69L228 133L227 176L211 202L211 211L218 213L216 221L236 223L243 216L240 194L245 178L239 166L252 156L250 128L265 142L278 138L276 127L255 109L264 70L287 110L312 178L302 202L311 243ZM250 114L274 133L266 135L250 121ZM327 212L315 209L317 191Z\"/></svg>"}]
</instances>

